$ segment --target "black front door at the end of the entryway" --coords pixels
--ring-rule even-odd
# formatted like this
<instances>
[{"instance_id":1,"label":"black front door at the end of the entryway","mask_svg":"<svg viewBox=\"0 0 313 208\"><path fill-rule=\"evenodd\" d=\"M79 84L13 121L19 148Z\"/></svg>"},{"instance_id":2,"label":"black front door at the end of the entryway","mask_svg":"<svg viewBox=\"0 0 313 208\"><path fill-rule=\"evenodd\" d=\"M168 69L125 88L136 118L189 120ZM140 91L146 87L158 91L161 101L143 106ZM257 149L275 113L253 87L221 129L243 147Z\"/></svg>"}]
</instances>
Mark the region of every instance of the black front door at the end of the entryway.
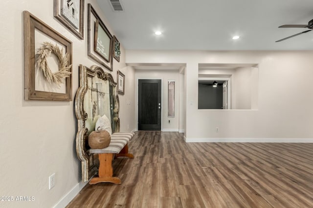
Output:
<instances>
[{"instance_id":1,"label":"black front door at the end of the entryway","mask_svg":"<svg viewBox=\"0 0 313 208\"><path fill-rule=\"evenodd\" d=\"M138 80L138 130L161 130L161 80Z\"/></svg>"}]
</instances>

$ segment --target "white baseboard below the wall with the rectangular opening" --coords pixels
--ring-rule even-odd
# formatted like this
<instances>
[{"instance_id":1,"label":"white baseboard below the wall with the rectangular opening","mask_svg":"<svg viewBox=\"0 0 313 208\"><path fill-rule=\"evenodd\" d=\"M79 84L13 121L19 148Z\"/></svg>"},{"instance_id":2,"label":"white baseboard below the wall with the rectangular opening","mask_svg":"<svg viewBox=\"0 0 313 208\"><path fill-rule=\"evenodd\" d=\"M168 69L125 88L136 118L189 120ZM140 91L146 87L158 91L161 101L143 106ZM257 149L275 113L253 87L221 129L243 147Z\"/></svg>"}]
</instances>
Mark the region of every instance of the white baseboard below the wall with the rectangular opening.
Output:
<instances>
[{"instance_id":1,"label":"white baseboard below the wall with the rectangular opening","mask_svg":"<svg viewBox=\"0 0 313 208\"><path fill-rule=\"evenodd\" d=\"M313 138L186 138L185 142L313 143Z\"/></svg>"}]
</instances>

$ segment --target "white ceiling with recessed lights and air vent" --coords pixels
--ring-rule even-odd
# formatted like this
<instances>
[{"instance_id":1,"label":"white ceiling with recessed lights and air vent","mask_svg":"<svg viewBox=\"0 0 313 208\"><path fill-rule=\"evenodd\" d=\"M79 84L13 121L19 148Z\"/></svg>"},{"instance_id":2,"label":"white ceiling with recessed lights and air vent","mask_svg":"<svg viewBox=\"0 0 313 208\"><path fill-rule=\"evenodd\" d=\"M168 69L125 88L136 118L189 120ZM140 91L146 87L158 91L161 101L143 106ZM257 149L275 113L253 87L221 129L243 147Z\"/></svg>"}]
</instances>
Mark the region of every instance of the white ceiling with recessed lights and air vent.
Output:
<instances>
[{"instance_id":1,"label":"white ceiling with recessed lights and air vent","mask_svg":"<svg viewBox=\"0 0 313 208\"><path fill-rule=\"evenodd\" d=\"M313 31L275 43L306 30L278 26L307 24L313 0L121 0L123 12L113 12L109 0L97 1L126 49L313 49Z\"/></svg>"}]
</instances>

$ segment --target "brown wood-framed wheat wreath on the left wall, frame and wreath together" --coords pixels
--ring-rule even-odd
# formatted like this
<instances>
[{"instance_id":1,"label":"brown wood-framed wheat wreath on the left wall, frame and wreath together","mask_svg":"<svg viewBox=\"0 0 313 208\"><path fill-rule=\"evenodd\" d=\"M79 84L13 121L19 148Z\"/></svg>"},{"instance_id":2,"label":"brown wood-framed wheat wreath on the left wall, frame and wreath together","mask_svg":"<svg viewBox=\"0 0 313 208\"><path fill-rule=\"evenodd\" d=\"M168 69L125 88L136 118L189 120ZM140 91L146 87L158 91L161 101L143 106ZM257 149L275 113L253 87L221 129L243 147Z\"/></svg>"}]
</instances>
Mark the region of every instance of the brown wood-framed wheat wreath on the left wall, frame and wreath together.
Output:
<instances>
[{"instance_id":1,"label":"brown wood-framed wheat wreath on the left wall, frame and wreath together","mask_svg":"<svg viewBox=\"0 0 313 208\"><path fill-rule=\"evenodd\" d=\"M24 99L72 100L72 42L33 16L24 19Z\"/></svg>"}]
</instances>

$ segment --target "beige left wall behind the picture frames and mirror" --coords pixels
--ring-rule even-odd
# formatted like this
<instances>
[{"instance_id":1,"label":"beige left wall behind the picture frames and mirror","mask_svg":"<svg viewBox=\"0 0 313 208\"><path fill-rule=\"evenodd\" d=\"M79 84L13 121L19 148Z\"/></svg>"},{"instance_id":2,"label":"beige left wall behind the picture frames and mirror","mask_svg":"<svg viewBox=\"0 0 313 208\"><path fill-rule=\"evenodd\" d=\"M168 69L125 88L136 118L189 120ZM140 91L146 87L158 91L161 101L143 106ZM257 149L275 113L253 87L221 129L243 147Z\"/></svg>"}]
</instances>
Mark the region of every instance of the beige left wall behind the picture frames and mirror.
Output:
<instances>
[{"instance_id":1,"label":"beige left wall behind the picture frames and mirror","mask_svg":"<svg viewBox=\"0 0 313 208\"><path fill-rule=\"evenodd\" d=\"M85 0L85 39L80 40L53 18L53 0L0 1L0 193L1 196L34 196L33 202L2 202L0 207L47 208L70 200L84 184L75 151L77 130L74 103L25 101L23 68L22 11L27 10L73 42L72 93L78 89L79 64L97 64L87 56L87 4L92 3L109 27L96 0ZM118 38L118 37L117 37ZM126 76L125 95L120 99L121 130L134 130L134 70L121 61L113 62L116 71ZM126 101L130 105L126 105ZM129 124L129 128L127 125ZM48 177L55 173L55 187L48 190ZM67 193L69 193L67 195ZM62 202L59 204L62 207Z\"/></svg>"}]
</instances>

